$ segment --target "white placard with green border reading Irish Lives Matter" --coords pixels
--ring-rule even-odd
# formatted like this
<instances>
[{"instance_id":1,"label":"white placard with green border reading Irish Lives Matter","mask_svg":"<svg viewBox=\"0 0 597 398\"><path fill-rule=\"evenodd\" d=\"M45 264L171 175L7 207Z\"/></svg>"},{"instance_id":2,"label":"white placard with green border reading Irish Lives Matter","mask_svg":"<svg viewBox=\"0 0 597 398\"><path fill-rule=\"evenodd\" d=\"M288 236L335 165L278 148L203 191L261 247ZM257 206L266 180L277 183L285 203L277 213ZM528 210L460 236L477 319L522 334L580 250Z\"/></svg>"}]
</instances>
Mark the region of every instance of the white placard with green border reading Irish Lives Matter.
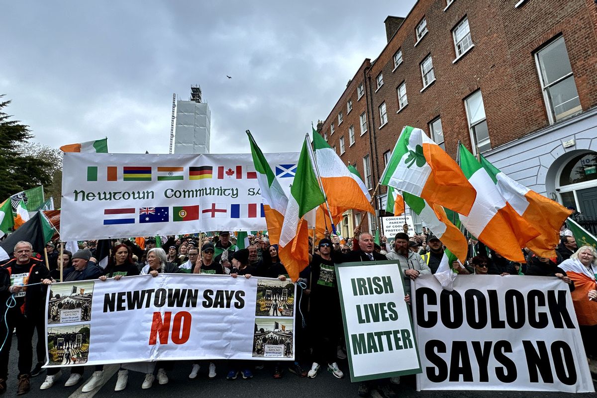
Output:
<instances>
[{"instance_id":1,"label":"white placard with green border reading Irish Lives Matter","mask_svg":"<svg viewBox=\"0 0 597 398\"><path fill-rule=\"evenodd\" d=\"M336 264L350 380L421 372L400 266Z\"/></svg>"}]
</instances>

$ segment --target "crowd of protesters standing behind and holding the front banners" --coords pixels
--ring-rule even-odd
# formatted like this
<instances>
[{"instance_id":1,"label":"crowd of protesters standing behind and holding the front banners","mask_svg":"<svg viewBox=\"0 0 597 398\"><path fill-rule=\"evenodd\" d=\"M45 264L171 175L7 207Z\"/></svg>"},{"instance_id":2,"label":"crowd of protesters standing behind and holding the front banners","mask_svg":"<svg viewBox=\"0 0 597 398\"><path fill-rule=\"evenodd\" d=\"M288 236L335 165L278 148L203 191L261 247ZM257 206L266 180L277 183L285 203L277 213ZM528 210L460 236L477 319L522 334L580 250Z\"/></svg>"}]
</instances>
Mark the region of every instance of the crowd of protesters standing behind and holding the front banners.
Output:
<instances>
[{"instance_id":1,"label":"crowd of protesters standing behind and holding the front banners","mask_svg":"<svg viewBox=\"0 0 597 398\"><path fill-rule=\"evenodd\" d=\"M494 275L534 275L553 276L562 279L570 286L573 300L597 301L595 290L595 271L597 271L597 252L592 246L576 246L576 240L569 230L562 228L561 244L553 258L537 257L525 249L527 263L513 263L499 253L488 250L476 240L469 241L467 261L463 264L455 261L454 270L460 274ZM344 239L327 232L321 239L309 238L309 265L300 273L300 282L304 289L297 289L297 295L304 295L296 313L295 360L274 362L272 375L281 378L286 371L298 377L315 378L323 366L336 378L343 378L344 373L338 366L338 360L346 359L343 322L340 311L340 297L336 280L335 263L352 261L396 260L404 275L405 301L410 303L410 280L416 280L421 274L433 274L438 270L445 247L433 233L423 228L422 233L410 235L408 226L404 232L393 236L392 240L382 236L379 242L370 233L361 233L358 228L352 239ZM44 372L45 363L45 291L51 289L51 283L77 280L105 281L123 276L149 274L153 277L160 273L203 273L229 274L232 277L277 277L288 278L288 272L278 257L277 245L270 245L267 236L258 234L249 236L248 248L239 249L236 240L229 232L219 232L213 236L196 234L193 236L167 237L161 247L153 237L139 240L110 240L110 255L107 263L100 257L98 243L87 241L79 243L77 251L60 249L60 242L48 242L47 259L32 252L29 242L19 242L14 248L14 257L0 267L0 311L6 313L6 323L0 325L0 341L5 344L0 351L0 394L6 391L8 377L8 354L11 339L16 334L19 348L17 394L30 390L30 378ZM140 243L140 244L138 244ZM315 247L313 245L315 244ZM100 266L102 264L102 266ZM579 297L574 281L567 271L586 274L592 285L582 290ZM25 283L23 280L27 280ZM297 282L297 281L293 281ZM126 279L123 282L127 283ZM23 285L29 286L26 291ZM587 293L588 291L588 293ZM7 299L14 295L16 305L7 308ZM298 304L297 304L298 305ZM303 319L304 316L304 319ZM589 317L590 318L590 317ZM595 332L597 321L592 325L579 323L581 336L587 353L587 360L594 357L597 361ZM584 318L583 318L584 319ZM597 319L597 315L595 316ZM8 329L7 329L8 326ZM33 335L37 333L36 362L33 365ZM218 364L218 365L217 365ZM128 370L123 366L118 371L115 391L124 390L128 382ZM153 363L155 368L146 369L141 388L150 388L155 380L167 384L168 371L173 362ZM259 361L189 361L190 379L199 375L202 366L207 370L207 377L217 377L219 369L224 369L228 380L237 377L251 378L253 372L263 369ZM216 366L217 365L217 366ZM310 366L309 366L310 365ZM590 363L590 370L597 374L597 367ZM48 368L41 389L53 387L60 380L66 368ZM82 381L83 366L72 366L66 387ZM387 398L395 397L392 384L398 384L399 377L361 382L358 394L370 395L373 389ZM99 388L104 383L103 366L96 366L91 378L84 382L82 391L88 392Z\"/></svg>"}]
</instances>

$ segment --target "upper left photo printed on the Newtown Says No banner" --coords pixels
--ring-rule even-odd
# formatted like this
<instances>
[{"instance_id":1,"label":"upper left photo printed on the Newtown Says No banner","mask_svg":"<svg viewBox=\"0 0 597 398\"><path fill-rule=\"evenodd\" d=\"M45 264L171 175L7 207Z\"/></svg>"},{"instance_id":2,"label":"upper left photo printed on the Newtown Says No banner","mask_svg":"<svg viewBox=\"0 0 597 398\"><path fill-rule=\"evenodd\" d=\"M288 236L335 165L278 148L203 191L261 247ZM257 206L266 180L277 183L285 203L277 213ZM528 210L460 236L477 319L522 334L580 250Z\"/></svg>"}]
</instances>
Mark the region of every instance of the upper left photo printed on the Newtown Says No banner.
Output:
<instances>
[{"instance_id":1,"label":"upper left photo printed on the Newtown Says No banner","mask_svg":"<svg viewBox=\"0 0 597 398\"><path fill-rule=\"evenodd\" d=\"M58 283L51 286L48 325L89 322L94 282Z\"/></svg>"}]
</instances>

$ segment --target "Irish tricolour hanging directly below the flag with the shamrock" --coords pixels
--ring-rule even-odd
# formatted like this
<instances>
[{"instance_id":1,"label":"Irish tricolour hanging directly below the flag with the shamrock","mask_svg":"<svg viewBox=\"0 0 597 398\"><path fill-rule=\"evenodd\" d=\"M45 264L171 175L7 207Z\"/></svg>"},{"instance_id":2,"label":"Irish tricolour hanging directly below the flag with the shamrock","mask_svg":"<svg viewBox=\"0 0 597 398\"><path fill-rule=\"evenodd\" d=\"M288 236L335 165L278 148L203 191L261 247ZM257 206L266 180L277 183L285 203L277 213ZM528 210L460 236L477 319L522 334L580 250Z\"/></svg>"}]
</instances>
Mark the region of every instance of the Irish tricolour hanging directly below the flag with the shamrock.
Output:
<instances>
[{"instance_id":1,"label":"Irish tricolour hanging directly below the flag with the shamrock","mask_svg":"<svg viewBox=\"0 0 597 398\"><path fill-rule=\"evenodd\" d=\"M411 195L408 192L402 192L404 201L407 205L421 217L421 220L437 236L442 243L450 249L456 258L461 261L466 260L467 242L466 237L462 235L460 229L454 226L448 218L444 208L439 205L433 205L423 198Z\"/></svg>"}]
</instances>

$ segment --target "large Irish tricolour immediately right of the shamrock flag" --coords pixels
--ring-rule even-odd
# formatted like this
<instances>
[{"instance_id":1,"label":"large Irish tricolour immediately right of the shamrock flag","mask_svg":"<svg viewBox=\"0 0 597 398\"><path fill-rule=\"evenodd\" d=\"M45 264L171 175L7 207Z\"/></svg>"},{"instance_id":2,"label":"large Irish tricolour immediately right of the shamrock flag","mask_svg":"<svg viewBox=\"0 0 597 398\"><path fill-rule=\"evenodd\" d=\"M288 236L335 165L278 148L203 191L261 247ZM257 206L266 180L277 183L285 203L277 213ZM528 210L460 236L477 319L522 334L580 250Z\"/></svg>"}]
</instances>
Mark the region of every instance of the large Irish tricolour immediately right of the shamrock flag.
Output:
<instances>
[{"instance_id":1,"label":"large Irish tricolour immediately right of the shamrock flag","mask_svg":"<svg viewBox=\"0 0 597 398\"><path fill-rule=\"evenodd\" d=\"M469 215L460 215L463 226L488 248L508 260L524 263L521 248L539 236L539 232L506 202L485 168L463 144L458 152L462 171L477 191Z\"/></svg>"}]
</instances>

